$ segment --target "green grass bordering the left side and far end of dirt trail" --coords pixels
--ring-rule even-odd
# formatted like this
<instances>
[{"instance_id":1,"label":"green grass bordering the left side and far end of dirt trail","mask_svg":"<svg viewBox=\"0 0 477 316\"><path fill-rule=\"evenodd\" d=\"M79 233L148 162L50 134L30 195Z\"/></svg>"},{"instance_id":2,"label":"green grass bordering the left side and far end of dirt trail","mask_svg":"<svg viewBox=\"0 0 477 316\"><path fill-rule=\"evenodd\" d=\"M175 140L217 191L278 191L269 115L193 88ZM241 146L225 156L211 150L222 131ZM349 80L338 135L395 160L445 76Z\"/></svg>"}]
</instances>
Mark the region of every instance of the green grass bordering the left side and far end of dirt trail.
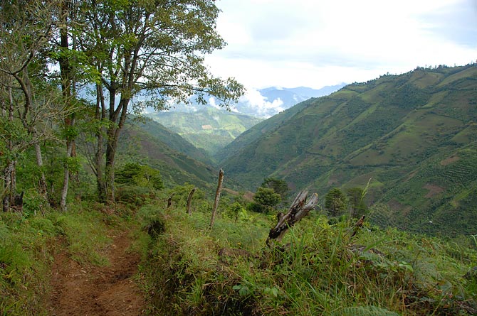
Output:
<instances>
[{"instance_id":1,"label":"green grass bordering the left side and far end of dirt trail","mask_svg":"<svg viewBox=\"0 0 477 316\"><path fill-rule=\"evenodd\" d=\"M66 251L80 263L106 265L107 231L123 222L95 205L0 213L0 315L48 315L54 255Z\"/></svg>"}]
</instances>

